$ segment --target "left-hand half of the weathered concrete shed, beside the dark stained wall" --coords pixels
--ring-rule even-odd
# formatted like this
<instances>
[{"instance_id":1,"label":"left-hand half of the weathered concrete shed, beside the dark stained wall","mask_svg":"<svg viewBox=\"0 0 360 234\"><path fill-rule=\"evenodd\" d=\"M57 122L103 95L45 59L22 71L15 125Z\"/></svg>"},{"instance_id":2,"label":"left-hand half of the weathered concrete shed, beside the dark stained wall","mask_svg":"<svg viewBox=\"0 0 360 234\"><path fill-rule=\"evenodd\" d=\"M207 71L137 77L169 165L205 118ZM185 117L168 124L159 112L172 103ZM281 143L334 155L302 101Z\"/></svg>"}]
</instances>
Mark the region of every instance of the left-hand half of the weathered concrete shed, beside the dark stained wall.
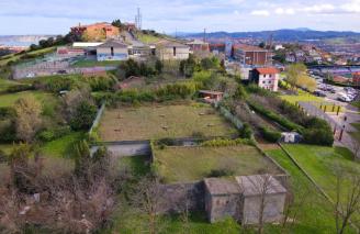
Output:
<instances>
[{"instance_id":1,"label":"left-hand half of the weathered concrete shed, beside the dark stained wall","mask_svg":"<svg viewBox=\"0 0 360 234\"><path fill-rule=\"evenodd\" d=\"M234 178L206 178L205 212L211 223L226 216L237 219L240 188Z\"/></svg>"}]
</instances>

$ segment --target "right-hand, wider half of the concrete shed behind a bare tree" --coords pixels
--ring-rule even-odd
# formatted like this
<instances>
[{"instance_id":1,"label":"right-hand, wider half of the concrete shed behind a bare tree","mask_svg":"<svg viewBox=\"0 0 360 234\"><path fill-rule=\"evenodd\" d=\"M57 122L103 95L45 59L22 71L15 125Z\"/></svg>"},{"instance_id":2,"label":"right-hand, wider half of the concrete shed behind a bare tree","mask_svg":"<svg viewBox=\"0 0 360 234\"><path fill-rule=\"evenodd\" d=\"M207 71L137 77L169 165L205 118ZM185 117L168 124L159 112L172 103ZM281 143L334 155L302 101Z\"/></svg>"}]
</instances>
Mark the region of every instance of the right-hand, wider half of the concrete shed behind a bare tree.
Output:
<instances>
[{"instance_id":1,"label":"right-hand, wider half of the concrete shed behind a bare tree","mask_svg":"<svg viewBox=\"0 0 360 234\"><path fill-rule=\"evenodd\" d=\"M271 175L236 177L240 187L240 214L243 225L280 222L286 199L286 189Z\"/></svg>"}]
</instances>

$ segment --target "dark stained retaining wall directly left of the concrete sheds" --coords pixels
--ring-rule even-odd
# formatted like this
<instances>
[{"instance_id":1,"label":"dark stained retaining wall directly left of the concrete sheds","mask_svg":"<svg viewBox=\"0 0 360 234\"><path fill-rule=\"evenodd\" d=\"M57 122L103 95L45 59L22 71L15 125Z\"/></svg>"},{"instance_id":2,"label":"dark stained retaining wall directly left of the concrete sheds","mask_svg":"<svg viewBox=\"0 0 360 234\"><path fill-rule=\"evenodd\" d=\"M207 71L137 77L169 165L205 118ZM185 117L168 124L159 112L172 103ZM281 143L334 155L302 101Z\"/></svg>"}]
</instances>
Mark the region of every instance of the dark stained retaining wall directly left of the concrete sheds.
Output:
<instances>
[{"instance_id":1,"label":"dark stained retaining wall directly left of the concrete sheds","mask_svg":"<svg viewBox=\"0 0 360 234\"><path fill-rule=\"evenodd\" d=\"M179 213L189 211L204 211L204 182L170 183L160 186L162 202L160 213Z\"/></svg>"}]
</instances>

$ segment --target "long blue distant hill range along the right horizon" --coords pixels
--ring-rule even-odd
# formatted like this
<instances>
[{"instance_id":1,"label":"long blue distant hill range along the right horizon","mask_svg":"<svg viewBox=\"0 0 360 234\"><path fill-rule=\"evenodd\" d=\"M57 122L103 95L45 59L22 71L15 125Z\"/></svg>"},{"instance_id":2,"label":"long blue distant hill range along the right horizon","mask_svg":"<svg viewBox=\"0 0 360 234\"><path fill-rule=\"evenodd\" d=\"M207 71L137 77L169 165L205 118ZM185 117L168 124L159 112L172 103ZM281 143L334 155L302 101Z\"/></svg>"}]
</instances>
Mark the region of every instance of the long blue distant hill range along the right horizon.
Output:
<instances>
[{"instance_id":1,"label":"long blue distant hill range along the right horizon","mask_svg":"<svg viewBox=\"0 0 360 234\"><path fill-rule=\"evenodd\" d=\"M308 40L327 40L337 37L359 37L360 33L357 32L337 32L337 31L314 31L310 29L295 29L295 30L277 30L277 31L261 31L261 32L213 32L207 33L207 38L259 38L267 40L272 34L275 41L294 42L294 41L308 41ZM181 33L182 37L203 37L203 33Z\"/></svg>"}]
</instances>

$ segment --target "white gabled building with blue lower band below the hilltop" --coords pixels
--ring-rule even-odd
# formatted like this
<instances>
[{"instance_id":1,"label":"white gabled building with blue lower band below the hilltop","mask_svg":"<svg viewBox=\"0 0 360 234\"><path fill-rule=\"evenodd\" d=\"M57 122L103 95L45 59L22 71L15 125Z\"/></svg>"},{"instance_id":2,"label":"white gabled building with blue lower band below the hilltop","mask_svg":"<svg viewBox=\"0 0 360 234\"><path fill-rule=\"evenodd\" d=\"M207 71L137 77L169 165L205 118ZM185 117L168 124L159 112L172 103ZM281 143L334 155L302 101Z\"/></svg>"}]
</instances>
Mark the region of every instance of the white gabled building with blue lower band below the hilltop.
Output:
<instances>
[{"instance_id":1,"label":"white gabled building with blue lower band below the hilltop","mask_svg":"<svg viewBox=\"0 0 360 234\"><path fill-rule=\"evenodd\" d=\"M97 47L98 60L126 60L127 45L120 41L108 41Z\"/></svg>"}]
</instances>

